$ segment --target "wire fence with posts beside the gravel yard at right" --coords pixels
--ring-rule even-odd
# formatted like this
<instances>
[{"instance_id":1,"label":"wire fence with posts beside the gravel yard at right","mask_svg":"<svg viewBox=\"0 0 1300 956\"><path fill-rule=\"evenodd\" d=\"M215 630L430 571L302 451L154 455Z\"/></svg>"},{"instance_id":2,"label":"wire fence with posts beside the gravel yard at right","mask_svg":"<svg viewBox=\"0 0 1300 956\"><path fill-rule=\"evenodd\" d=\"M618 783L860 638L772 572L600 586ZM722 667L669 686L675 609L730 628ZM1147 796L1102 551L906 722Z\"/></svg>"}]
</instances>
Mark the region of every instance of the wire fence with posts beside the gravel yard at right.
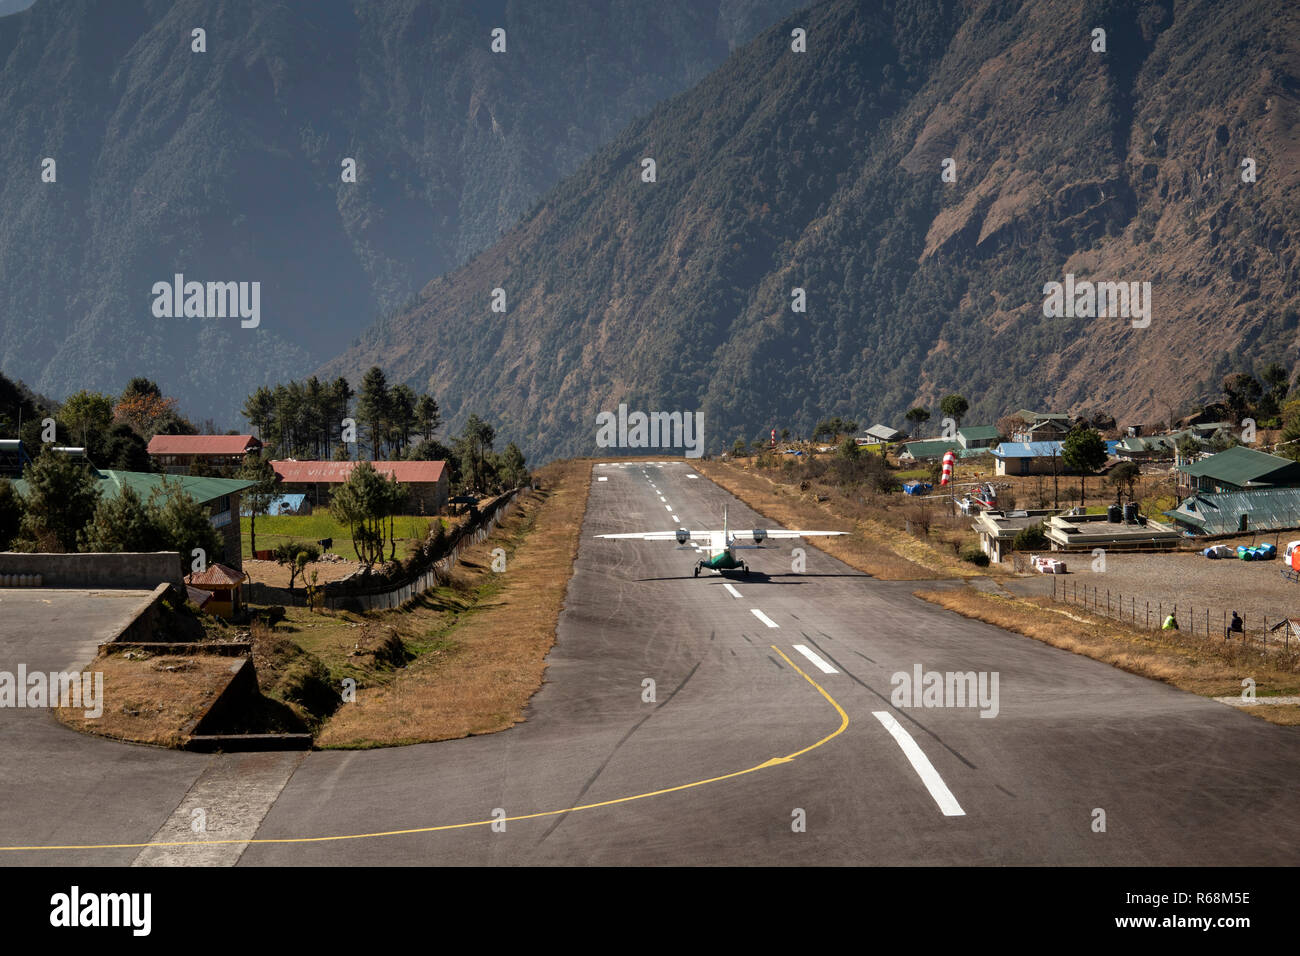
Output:
<instances>
[{"instance_id":1,"label":"wire fence with posts beside the gravel yard at right","mask_svg":"<svg viewBox=\"0 0 1300 956\"><path fill-rule=\"evenodd\" d=\"M1262 614L1240 614L1242 630L1228 631L1228 611L1226 609L1197 607L1195 605L1175 605L1165 601L1152 604L1148 598L1139 601L1134 594L1124 596L1118 591L1098 588L1079 581L1069 581L1052 575L1052 600L1060 604L1083 607L1093 614L1101 614L1113 620L1122 620L1147 631L1158 631L1165 623L1165 615L1173 614L1178 630L1221 641L1232 640L1265 648L1291 652L1294 626L1286 618L1269 623ZM1297 640L1300 649L1300 640Z\"/></svg>"}]
</instances>

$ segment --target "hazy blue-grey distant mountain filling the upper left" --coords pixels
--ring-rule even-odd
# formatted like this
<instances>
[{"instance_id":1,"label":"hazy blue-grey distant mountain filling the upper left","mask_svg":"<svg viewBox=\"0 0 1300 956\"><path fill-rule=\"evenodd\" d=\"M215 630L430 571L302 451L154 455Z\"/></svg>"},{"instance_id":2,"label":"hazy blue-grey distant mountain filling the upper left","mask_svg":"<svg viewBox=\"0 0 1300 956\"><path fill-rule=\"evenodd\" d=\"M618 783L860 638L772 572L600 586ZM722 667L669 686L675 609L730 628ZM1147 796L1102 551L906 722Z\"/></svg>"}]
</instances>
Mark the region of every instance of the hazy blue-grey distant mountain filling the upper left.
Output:
<instances>
[{"instance_id":1,"label":"hazy blue-grey distant mountain filling the upper left","mask_svg":"<svg viewBox=\"0 0 1300 956\"><path fill-rule=\"evenodd\" d=\"M0 20L0 372L242 425L796 5L39 0ZM177 273L259 324L157 317Z\"/></svg>"}]
</instances>

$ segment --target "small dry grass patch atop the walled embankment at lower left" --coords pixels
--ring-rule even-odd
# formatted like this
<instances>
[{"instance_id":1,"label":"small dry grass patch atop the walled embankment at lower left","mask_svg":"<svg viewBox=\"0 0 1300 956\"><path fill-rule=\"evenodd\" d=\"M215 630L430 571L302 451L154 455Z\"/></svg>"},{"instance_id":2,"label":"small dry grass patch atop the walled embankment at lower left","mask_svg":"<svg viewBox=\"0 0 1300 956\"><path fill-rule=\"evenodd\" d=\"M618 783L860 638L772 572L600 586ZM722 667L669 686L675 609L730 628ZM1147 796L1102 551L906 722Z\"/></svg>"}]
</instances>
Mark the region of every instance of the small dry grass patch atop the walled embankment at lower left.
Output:
<instances>
[{"instance_id":1,"label":"small dry grass patch atop the walled embankment at lower left","mask_svg":"<svg viewBox=\"0 0 1300 956\"><path fill-rule=\"evenodd\" d=\"M87 718L84 708L57 708L55 717L83 734L179 747L182 730L230 683L239 658L211 654L107 654L87 667L104 674L104 713Z\"/></svg>"}]
</instances>

